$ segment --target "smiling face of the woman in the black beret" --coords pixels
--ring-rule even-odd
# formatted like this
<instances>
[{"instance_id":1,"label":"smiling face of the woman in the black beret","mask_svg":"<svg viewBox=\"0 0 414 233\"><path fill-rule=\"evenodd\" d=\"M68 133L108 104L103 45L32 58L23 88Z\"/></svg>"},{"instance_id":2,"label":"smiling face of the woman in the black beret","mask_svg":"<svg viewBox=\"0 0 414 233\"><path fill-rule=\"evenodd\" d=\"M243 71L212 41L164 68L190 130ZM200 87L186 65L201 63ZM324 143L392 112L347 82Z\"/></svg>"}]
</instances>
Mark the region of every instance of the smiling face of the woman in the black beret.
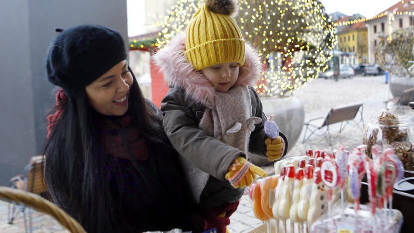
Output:
<instances>
[{"instance_id":1,"label":"smiling face of the woman in the black beret","mask_svg":"<svg viewBox=\"0 0 414 233\"><path fill-rule=\"evenodd\" d=\"M123 60L86 86L89 104L98 113L122 116L128 110L129 88L134 80L127 68L128 64Z\"/></svg>"}]
</instances>

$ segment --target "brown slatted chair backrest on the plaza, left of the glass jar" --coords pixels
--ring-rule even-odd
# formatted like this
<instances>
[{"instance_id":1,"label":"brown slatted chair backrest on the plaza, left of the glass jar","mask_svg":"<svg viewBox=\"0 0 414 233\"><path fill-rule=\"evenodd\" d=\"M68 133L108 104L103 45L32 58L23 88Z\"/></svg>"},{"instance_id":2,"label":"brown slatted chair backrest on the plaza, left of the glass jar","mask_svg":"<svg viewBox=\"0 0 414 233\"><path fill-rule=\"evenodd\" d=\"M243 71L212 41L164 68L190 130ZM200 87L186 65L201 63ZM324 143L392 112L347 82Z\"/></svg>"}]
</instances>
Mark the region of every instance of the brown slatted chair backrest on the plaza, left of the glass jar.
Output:
<instances>
[{"instance_id":1,"label":"brown slatted chair backrest on the plaza, left of the glass jar","mask_svg":"<svg viewBox=\"0 0 414 233\"><path fill-rule=\"evenodd\" d=\"M359 103L332 108L323 121L321 127L355 118L362 105L363 103Z\"/></svg>"}]
</instances>

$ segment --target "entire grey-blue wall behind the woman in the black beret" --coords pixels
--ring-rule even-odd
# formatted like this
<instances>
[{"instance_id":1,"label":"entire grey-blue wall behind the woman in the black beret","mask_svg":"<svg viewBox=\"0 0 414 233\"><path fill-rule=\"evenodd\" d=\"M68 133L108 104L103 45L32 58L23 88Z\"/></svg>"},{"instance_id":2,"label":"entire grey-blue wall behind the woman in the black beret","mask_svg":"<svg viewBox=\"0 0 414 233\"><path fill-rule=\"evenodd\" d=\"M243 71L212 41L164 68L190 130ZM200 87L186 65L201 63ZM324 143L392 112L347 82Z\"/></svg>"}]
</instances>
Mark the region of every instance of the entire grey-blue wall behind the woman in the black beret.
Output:
<instances>
[{"instance_id":1,"label":"entire grey-blue wall behind the woman in the black beret","mask_svg":"<svg viewBox=\"0 0 414 233\"><path fill-rule=\"evenodd\" d=\"M84 23L115 29L126 42L126 0L0 0L0 185L42 152L54 105L45 58L55 28Z\"/></svg>"}]
</instances>

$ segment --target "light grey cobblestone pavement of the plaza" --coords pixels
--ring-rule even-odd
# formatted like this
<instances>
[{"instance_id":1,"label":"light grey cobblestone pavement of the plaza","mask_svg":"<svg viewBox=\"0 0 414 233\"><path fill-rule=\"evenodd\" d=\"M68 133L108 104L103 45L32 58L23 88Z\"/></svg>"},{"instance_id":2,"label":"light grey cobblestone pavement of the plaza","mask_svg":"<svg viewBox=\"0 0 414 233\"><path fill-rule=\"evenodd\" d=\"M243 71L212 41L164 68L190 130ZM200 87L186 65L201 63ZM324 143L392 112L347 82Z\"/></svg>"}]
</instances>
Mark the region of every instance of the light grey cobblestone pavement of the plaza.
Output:
<instances>
[{"instance_id":1,"label":"light grey cobblestone pavement of the plaza","mask_svg":"<svg viewBox=\"0 0 414 233\"><path fill-rule=\"evenodd\" d=\"M307 87L298 90L294 96L304 104L305 121L316 117L325 117L329 110L335 106L363 102L363 119L364 123L367 124L370 116L377 115L384 108L384 101L392 98L389 93L389 86L384 81L384 76L357 76L353 79L340 79L338 82L317 79L308 84ZM414 115L414 111L408 108L405 112ZM333 145L344 142L349 148L353 148L361 143L362 130L356 125L347 125L341 133L338 133L339 126L340 124L331 127ZM303 155L307 148L328 148L326 138L323 136L312 136L309 141L302 143L303 133L288 156ZM268 173L273 172L273 166L267 166L264 169ZM37 233L65 232L49 216L38 212L33 212L32 216L33 229ZM22 215L18 216L13 225L8 225L6 219L7 204L0 201L0 232L24 232ZM241 198L239 208L230 220L229 230L232 233L247 233L263 224L254 217L248 195Z\"/></svg>"}]
</instances>

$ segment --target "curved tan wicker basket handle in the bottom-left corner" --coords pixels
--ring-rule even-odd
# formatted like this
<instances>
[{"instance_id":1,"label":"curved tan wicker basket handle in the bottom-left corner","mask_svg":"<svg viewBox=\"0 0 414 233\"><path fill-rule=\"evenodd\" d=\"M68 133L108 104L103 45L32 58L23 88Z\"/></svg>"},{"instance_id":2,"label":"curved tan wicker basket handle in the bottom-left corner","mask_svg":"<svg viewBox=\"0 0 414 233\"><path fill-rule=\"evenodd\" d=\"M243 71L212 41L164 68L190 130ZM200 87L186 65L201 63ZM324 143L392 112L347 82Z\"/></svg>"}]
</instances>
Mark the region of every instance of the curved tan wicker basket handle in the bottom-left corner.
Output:
<instances>
[{"instance_id":1,"label":"curved tan wicker basket handle in the bottom-left corner","mask_svg":"<svg viewBox=\"0 0 414 233\"><path fill-rule=\"evenodd\" d=\"M86 233L83 227L61 210L52 202L40 197L39 195L0 186L0 200L14 201L25 206L31 207L39 212L46 213L58 221L64 228L72 233Z\"/></svg>"}]
</instances>

